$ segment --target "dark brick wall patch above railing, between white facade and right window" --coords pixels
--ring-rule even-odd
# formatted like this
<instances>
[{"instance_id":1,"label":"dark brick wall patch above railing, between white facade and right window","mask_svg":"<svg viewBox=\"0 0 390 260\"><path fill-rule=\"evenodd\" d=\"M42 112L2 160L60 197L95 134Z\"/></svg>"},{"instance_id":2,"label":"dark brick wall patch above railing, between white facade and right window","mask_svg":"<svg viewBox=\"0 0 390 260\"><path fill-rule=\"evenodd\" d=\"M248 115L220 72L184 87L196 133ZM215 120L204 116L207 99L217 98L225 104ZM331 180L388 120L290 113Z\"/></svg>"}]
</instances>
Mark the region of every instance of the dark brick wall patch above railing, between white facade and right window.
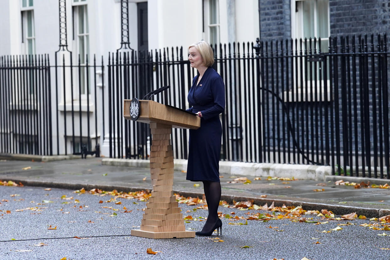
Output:
<instances>
[{"instance_id":1,"label":"dark brick wall patch above railing, between white facade and right window","mask_svg":"<svg viewBox=\"0 0 390 260\"><path fill-rule=\"evenodd\" d=\"M261 40L291 38L290 0L260 0Z\"/></svg>"}]
</instances>

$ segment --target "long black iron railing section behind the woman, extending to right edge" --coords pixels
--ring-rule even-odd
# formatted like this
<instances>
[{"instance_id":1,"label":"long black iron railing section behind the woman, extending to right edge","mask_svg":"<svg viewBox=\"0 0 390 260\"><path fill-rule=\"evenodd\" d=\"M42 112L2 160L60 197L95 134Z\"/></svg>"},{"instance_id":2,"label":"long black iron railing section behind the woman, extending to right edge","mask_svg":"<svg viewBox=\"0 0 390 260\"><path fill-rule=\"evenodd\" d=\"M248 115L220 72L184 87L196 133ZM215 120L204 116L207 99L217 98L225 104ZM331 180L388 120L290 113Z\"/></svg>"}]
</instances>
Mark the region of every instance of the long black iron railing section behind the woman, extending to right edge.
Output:
<instances>
[{"instance_id":1,"label":"long black iron railing section behind the woman, extending to right edge","mask_svg":"<svg viewBox=\"0 0 390 260\"><path fill-rule=\"evenodd\" d=\"M227 104L221 159L332 165L335 174L390 178L386 41L371 35L213 46ZM122 119L121 97L170 85L154 100L188 108L196 71L183 52L110 56L110 133L119 141L111 157L147 158L149 129ZM174 131L177 158L186 158L187 136Z\"/></svg>"}]
</instances>

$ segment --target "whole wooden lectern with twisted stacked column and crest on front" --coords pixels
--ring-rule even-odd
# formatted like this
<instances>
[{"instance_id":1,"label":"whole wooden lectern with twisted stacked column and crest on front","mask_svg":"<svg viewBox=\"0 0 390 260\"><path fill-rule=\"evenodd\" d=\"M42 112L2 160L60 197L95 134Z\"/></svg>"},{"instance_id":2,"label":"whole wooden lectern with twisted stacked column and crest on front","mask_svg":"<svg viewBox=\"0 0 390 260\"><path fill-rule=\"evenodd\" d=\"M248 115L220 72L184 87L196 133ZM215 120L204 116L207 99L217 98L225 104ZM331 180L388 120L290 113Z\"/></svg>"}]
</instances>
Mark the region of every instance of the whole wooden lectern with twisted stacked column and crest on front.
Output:
<instances>
[{"instance_id":1,"label":"whole wooden lectern with twisted stacked column and crest on front","mask_svg":"<svg viewBox=\"0 0 390 260\"><path fill-rule=\"evenodd\" d=\"M133 104L132 100L124 100L125 119L135 120L132 116L136 109L131 113ZM153 239L195 237L194 231L186 231L183 214L173 193L174 158L170 138L172 127L197 129L200 118L152 100L139 100L138 111L136 121L149 124L152 134L150 173L153 190L146 203L141 227L132 229L131 235Z\"/></svg>"}]
</instances>

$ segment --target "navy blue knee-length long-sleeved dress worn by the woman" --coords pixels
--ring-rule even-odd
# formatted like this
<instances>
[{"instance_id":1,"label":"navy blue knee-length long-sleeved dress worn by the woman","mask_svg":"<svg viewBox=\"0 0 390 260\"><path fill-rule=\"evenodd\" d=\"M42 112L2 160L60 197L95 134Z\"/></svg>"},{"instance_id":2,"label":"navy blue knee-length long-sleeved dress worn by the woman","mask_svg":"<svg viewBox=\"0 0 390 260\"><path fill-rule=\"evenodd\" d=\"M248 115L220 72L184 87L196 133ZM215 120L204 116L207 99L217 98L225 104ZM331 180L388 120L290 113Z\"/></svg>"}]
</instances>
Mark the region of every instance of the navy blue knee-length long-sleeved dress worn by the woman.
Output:
<instances>
[{"instance_id":1,"label":"navy blue knee-length long-sleeved dress worn by the woman","mask_svg":"<svg viewBox=\"0 0 390 260\"><path fill-rule=\"evenodd\" d=\"M193 78L188 92L188 111L202 112L200 127L190 129L187 180L220 182L222 125L219 114L225 110L225 85L221 76L208 67L196 85L199 74Z\"/></svg>"}]
</instances>

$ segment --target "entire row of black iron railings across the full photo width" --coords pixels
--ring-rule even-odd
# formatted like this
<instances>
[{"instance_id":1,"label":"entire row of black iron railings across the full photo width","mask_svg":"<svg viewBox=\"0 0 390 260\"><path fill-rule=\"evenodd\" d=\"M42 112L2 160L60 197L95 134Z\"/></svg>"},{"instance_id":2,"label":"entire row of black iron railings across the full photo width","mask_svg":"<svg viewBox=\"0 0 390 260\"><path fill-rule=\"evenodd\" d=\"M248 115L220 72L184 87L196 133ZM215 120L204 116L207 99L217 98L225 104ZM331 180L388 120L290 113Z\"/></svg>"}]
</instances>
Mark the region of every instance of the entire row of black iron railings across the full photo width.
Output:
<instances>
[{"instance_id":1,"label":"entire row of black iron railings across the full photo width","mask_svg":"<svg viewBox=\"0 0 390 260\"><path fill-rule=\"evenodd\" d=\"M213 49L226 92L222 160L330 165L334 174L390 179L386 35ZM106 76L103 57L73 64L62 53L54 66L48 55L0 57L0 152L93 154L106 132L110 157L147 159L149 126L123 119L123 99L170 85L152 98L188 108L196 70L186 53L119 50L109 54ZM186 159L188 130L174 129L172 142L175 157Z\"/></svg>"}]
</instances>

